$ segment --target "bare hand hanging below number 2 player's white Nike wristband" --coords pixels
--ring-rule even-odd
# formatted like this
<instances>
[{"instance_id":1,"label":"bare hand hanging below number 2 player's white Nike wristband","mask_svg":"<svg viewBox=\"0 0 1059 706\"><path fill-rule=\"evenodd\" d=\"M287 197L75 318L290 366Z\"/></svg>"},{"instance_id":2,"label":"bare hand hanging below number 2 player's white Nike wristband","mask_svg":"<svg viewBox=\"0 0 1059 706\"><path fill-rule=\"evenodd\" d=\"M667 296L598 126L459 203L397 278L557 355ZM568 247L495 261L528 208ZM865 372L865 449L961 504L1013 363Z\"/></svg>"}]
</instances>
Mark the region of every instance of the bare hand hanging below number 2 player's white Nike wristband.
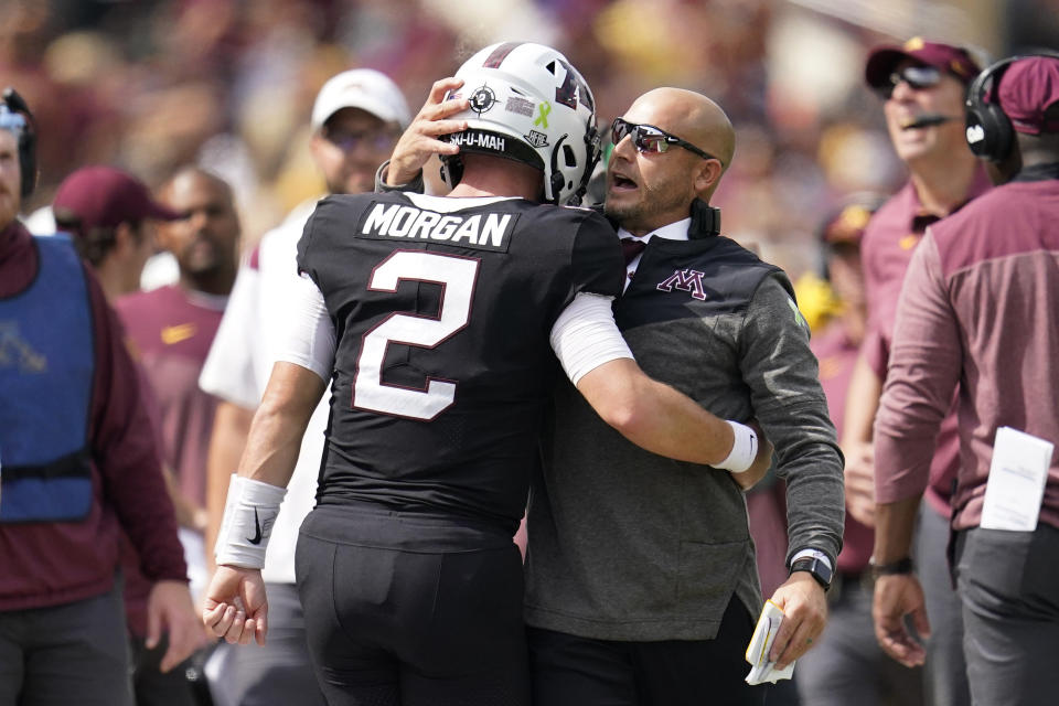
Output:
<instances>
[{"instance_id":1,"label":"bare hand hanging below number 2 player's white Nike wristband","mask_svg":"<svg viewBox=\"0 0 1059 706\"><path fill-rule=\"evenodd\" d=\"M218 566L203 600L202 623L218 638L235 644L265 644L268 600L260 569Z\"/></svg>"}]
</instances>

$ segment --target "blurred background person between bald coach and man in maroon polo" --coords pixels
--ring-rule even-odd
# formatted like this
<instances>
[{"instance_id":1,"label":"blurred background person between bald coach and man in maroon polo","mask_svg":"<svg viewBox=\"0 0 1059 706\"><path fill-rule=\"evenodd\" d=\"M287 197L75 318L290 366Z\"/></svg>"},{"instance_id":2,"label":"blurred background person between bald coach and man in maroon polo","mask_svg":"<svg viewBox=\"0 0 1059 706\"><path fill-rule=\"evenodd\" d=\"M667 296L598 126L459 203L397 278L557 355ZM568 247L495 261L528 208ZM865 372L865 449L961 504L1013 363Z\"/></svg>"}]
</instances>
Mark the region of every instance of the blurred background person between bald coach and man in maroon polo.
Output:
<instances>
[{"instance_id":1,"label":"blurred background person between bald coach and man in maroon polo","mask_svg":"<svg viewBox=\"0 0 1059 706\"><path fill-rule=\"evenodd\" d=\"M820 360L820 382L827 408L842 434L846 392L864 340L868 307L860 266L860 239L884 199L851 197L820 231L824 279L834 307L811 347ZM806 706L917 706L923 703L920 670L909 671L887 656L871 624L868 559L871 527L846 512L842 553L827 593L827 627L820 644L798 663L796 683Z\"/></svg>"}]
</instances>

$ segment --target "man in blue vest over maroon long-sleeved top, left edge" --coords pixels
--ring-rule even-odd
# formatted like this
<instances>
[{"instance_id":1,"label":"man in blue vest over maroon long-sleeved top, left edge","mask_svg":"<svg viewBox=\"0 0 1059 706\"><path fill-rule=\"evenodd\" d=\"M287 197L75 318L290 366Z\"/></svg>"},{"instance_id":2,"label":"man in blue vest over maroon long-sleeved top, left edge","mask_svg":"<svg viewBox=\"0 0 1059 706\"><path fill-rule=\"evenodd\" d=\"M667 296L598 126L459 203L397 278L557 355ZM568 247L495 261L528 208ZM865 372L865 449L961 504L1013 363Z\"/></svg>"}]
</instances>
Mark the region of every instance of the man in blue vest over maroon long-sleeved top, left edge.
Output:
<instances>
[{"instance_id":1,"label":"man in blue vest over maroon long-sleeved top, left edge","mask_svg":"<svg viewBox=\"0 0 1059 706\"><path fill-rule=\"evenodd\" d=\"M35 181L33 126L0 104L0 703L129 704L118 537L154 587L149 641L170 668L191 610L137 373L103 290L65 237L17 220Z\"/></svg>"}]
</instances>

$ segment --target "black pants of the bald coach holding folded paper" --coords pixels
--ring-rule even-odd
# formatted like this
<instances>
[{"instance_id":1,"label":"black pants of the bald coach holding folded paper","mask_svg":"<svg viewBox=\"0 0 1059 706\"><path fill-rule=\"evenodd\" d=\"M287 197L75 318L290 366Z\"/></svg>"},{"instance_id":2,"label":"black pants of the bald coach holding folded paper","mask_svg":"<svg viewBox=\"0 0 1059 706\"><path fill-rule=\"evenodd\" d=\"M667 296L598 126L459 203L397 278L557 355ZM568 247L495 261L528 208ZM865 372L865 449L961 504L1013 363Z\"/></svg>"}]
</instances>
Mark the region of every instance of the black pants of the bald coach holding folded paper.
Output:
<instances>
[{"instance_id":1,"label":"black pants of the bald coach holding folded paper","mask_svg":"<svg viewBox=\"0 0 1059 706\"><path fill-rule=\"evenodd\" d=\"M534 706L761 706L748 686L753 634L737 598L714 640L621 642L528 628Z\"/></svg>"}]
</instances>

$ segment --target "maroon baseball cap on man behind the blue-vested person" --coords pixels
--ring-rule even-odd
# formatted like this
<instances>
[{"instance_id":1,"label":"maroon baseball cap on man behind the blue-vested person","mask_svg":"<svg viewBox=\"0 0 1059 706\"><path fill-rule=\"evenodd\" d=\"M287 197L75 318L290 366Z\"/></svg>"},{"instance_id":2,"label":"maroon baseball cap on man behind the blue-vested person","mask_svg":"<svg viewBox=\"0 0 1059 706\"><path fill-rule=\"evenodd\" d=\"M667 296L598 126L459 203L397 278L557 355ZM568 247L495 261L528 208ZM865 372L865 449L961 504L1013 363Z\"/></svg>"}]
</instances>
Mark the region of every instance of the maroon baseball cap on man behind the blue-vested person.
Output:
<instances>
[{"instance_id":1,"label":"maroon baseball cap on man behind the blue-vested person","mask_svg":"<svg viewBox=\"0 0 1059 706\"><path fill-rule=\"evenodd\" d=\"M145 218L183 217L154 201L143 182L113 167L84 167L73 172L58 185L52 211L58 220L77 218L78 235Z\"/></svg>"}]
</instances>

